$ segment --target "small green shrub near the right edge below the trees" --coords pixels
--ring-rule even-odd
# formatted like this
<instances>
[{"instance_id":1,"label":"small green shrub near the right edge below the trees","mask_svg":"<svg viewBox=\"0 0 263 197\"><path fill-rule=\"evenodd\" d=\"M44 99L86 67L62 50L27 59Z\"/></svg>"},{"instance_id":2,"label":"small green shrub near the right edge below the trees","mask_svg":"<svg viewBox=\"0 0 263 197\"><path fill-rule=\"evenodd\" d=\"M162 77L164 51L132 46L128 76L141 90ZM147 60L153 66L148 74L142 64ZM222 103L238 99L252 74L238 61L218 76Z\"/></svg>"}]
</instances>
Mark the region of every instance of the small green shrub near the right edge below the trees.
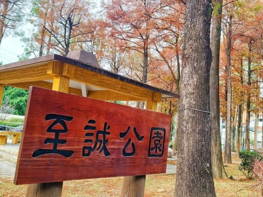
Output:
<instances>
[{"instance_id":1,"label":"small green shrub near the right edge below the trees","mask_svg":"<svg viewBox=\"0 0 263 197\"><path fill-rule=\"evenodd\" d=\"M263 160L262 156L255 151L245 150L239 152L241 164L239 170L246 175L247 179L251 179L253 175L254 161L258 159Z\"/></svg>"}]
</instances>

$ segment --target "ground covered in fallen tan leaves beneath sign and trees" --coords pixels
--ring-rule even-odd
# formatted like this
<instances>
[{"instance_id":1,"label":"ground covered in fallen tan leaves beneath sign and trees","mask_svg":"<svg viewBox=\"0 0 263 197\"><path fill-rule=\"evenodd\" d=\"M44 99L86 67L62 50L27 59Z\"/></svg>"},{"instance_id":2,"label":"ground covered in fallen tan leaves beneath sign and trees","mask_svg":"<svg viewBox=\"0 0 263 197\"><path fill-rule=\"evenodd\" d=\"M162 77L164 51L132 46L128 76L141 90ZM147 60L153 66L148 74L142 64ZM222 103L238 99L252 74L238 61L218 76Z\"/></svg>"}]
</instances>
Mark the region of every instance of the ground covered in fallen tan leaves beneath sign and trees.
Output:
<instances>
[{"instance_id":1,"label":"ground covered in fallen tan leaves beneath sign and trees","mask_svg":"<svg viewBox=\"0 0 263 197\"><path fill-rule=\"evenodd\" d=\"M233 161L239 161L233 155ZM169 161L176 164L176 161ZM247 180L238 170L238 164L226 164L228 175L234 180L215 179L217 197L224 196L260 196L256 189L249 188L256 180ZM176 175L147 175L144 196L172 197L174 196ZM122 178L93 179L65 181L62 196L64 197L93 197L120 196ZM12 180L0 179L0 196L24 196L25 185L13 185ZM239 191L240 190L240 191Z\"/></svg>"}]
</instances>

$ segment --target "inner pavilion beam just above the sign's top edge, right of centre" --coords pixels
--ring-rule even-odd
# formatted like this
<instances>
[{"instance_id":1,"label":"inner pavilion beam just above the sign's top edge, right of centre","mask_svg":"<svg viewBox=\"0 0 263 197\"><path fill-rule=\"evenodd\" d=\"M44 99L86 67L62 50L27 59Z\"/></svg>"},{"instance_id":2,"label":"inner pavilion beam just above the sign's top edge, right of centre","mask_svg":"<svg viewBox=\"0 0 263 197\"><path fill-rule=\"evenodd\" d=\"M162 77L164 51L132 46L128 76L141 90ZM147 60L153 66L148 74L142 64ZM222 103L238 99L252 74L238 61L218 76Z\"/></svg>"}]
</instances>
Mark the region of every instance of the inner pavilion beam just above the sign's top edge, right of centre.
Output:
<instances>
[{"instance_id":1,"label":"inner pavilion beam just above the sign's top edge, right of centre","mask_svg":"<svg viewBox=\"0 0 263 197\"><path fill-rule=\"evenodd\" d=\"M88 97L102 101L145 101L136 96L130 96L110 90L88 91Z\"/></svg>"}]
</instances>

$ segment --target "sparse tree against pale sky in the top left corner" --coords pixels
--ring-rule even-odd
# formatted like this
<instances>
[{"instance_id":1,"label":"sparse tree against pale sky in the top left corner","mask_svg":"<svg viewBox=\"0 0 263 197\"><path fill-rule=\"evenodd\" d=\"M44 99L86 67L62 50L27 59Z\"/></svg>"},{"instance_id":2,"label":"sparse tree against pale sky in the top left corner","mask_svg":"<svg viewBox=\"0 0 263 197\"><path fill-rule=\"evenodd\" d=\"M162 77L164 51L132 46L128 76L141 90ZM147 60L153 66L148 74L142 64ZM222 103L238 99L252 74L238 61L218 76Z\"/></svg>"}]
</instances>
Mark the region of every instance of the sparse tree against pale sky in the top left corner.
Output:
<instances>
[{"instance_id":1,"label":"sparse tree against pale sky in the top left corner","mask_svg":"<svg viewBox=\"0 0 263 197\"><path fill-rule=\"evenodd\" d=\"M22 22L26 0L0 1L0 45L8 29L16 29Z\"/></svg>"}]
</instances>

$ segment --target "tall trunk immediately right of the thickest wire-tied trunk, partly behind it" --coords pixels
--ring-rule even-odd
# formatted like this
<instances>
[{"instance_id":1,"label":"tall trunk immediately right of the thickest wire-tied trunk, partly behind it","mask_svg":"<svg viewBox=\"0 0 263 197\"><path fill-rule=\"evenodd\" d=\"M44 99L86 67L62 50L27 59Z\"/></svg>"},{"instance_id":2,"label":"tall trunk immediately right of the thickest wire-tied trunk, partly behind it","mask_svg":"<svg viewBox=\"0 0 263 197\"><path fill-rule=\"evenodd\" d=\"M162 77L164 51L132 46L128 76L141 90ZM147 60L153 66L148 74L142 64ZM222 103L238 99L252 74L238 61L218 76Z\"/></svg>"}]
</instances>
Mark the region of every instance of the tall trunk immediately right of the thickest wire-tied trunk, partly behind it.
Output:
<instances>
[{"instance_id":1,"label":"tall trunk immediately right of the thickest wire-tied trunk, partly behind it","mask_svg":"<svg viewBox=\"0 0 263 197\"><path fill-rule=\"evenodd\" d=\"M220 5L213 12L213 25L211 29L211 50L213 61L210 70L210 111L211 111L211 133L212 133L212 169L214 178L227 178L223 167L222 145L220 133L220 111L219 111L219 53L221 35L222 0L213 1L214 5ZM215 7L215 6L214 6Z\"/></svg>"}]
</instances>

